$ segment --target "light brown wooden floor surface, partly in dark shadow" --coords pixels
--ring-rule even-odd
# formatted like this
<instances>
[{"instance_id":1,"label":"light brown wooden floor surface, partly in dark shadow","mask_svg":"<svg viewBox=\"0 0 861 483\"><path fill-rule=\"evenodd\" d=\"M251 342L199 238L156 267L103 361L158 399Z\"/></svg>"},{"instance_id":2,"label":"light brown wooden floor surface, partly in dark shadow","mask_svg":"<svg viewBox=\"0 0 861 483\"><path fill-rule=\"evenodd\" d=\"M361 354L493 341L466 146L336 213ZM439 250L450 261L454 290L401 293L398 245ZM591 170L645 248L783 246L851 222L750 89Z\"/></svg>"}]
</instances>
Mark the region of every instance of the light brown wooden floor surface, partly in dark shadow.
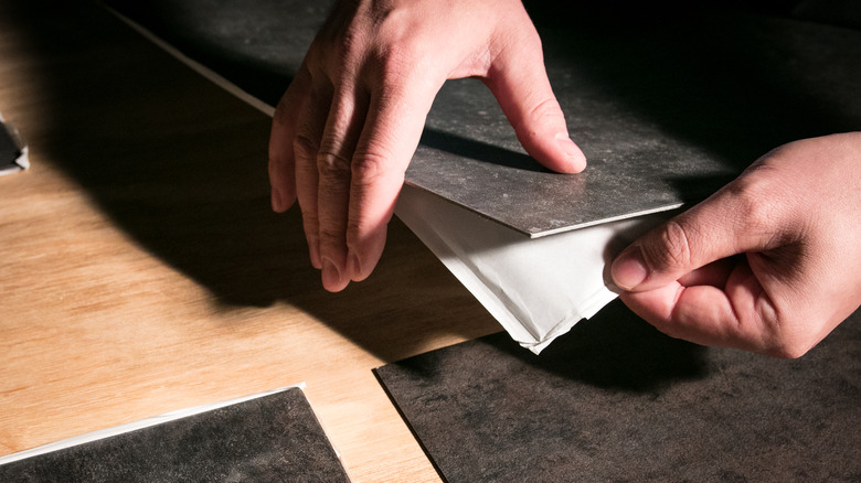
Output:
<instances>
[{"instance_id":1,"label":"light brown wooden floor surface, partly in dark shadow","mask_svg":"<svg viewBox=\"0 0 861 483\"><path fill-rule=\"evenodd\" d=\"M325 292L269 119L97 4L0 3L0 454L305 382L353 481L439 481L371 369L499 328L408 229Z\"/></svg>"}]
</instances>

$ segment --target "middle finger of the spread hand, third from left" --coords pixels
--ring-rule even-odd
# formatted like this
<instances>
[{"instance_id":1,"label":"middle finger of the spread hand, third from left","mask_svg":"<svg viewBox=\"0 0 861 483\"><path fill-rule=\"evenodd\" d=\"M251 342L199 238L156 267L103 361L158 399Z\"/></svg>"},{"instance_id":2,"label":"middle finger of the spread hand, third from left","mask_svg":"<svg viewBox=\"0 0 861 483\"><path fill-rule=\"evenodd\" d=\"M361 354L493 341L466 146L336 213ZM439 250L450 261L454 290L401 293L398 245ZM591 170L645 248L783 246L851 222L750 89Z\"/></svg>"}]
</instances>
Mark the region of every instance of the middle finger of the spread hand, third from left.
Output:
<instances>
[{"instance_id":1,"label":"middle finger of the spread hand, third from left","mask_svg":"<svg viewBox=\"0 0 861 483\"><path fill-rule=\"evenodd\" d=\"M365 122L368 96L349 85L339 88L317 153L322 283L330 291L343 290L352 278L347 264L351 170L355 144Z\"/></svg>"}]
</instances>

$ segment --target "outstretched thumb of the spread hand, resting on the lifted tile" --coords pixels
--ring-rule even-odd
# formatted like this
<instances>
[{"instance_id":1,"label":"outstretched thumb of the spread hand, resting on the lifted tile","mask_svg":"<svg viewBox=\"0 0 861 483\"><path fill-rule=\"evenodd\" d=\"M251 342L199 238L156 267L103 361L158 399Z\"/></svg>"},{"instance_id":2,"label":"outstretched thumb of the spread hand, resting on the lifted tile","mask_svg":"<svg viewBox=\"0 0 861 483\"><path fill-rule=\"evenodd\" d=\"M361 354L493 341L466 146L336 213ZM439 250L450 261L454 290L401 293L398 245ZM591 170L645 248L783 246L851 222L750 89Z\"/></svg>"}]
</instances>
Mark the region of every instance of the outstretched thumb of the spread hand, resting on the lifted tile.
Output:
<instances>
[{"instance_id":1,"label":"outstretched thumb of the spread hand, resting on the lifted tile","mask_svg":"<svg viewBox=\"0 0 861 483\"><path fill-rule=\"evenodd\" d=\"M561 173L581 172L586 157L568 137L565 116L548 79L541 40L534 28L522 36L509 41L485 83L530 155Z\"/></svg>"}]
</instances>

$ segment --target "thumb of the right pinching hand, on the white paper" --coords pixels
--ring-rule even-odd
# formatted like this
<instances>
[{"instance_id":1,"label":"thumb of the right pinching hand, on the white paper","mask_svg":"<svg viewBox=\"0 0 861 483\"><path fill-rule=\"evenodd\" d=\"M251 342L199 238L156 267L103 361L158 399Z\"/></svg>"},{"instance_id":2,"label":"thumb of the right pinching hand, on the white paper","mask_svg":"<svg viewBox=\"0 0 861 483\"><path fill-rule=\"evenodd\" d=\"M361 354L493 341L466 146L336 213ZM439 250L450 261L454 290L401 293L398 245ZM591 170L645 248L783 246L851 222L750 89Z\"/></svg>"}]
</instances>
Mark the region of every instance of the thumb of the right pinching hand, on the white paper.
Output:
<instances>
[{"instance_id":1,"label":"thumb of the right pinching hand, on the white paper","mask_svg":"<svg viewBox=\"0 0 861 483\"><path fill-rule=\"evenodd\" d=\"M765 200L754 201L738 181L655 228L613 261L613 281L626 291L667 286L712 261L763 251L779 240L779 223Z\"/></svg>"}]
</instances>

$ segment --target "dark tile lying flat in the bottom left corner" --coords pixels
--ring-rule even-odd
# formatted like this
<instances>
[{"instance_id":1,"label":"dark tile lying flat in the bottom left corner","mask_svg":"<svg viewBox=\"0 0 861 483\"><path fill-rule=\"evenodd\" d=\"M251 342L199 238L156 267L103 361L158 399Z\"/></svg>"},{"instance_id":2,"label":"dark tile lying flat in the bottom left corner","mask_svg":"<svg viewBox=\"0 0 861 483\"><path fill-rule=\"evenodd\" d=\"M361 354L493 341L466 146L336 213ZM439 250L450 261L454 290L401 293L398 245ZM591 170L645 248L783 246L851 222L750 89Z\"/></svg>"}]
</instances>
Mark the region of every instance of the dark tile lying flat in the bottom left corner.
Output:
<instances>
[{"instance_id":1,"label":"dark tile lying flat in the bottom left corner","mask_svg":"<svg viewBox=\"0 0 861 483\"><path fill-rule=\"evenodd\" d=\"M349 482L301 389L0 465L13 482Z\"/></svg>"}]
</instances>

